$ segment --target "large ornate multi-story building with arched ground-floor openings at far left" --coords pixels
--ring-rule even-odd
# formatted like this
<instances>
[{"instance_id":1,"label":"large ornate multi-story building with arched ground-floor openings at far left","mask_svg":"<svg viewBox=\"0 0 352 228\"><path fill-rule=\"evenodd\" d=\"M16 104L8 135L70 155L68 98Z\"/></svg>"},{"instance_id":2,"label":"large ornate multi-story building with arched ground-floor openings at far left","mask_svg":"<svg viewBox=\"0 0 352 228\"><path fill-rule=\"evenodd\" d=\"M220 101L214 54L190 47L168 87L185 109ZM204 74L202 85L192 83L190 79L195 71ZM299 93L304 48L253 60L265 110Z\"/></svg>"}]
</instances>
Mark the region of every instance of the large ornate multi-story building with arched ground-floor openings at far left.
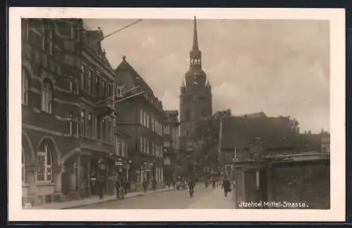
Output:
<instances>
[{"instance_id":1,"label":"large ornate multi-story building with arched ground-floor openings at far left","mask_svg":"<svg viewBox=\"0 0 352 228\"><path fill-rule=\"evenodd\" d=\"M115 74L96 35L80 19L23 19L24 202L94 194L96 179L108 182L115 169L113 154L127 160L116 144L127 136L113 130Z\"/></svg>"}]
</instances>

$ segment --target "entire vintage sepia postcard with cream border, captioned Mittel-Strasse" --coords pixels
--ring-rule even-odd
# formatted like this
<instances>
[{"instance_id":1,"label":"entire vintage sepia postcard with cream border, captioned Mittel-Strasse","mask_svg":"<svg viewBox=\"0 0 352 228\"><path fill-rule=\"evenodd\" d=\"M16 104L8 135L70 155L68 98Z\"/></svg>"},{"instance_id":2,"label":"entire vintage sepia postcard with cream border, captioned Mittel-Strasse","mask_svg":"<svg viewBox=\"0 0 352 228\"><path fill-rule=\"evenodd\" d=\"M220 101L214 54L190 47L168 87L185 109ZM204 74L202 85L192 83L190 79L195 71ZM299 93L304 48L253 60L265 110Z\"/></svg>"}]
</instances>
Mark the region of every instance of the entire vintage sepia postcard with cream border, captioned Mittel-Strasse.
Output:
<instances>
[{"instance_id":1,"label":"entire vintage sepia postcard with cream border, captioned Mittel-Strasse","mask_svg":"<svg viewBox=\"0 0 352 228\"><path fill-rule=\"evenodd\" d=\"M343 221L344 23L10 8L9 220Z\"/></svg>"}]
</instances>

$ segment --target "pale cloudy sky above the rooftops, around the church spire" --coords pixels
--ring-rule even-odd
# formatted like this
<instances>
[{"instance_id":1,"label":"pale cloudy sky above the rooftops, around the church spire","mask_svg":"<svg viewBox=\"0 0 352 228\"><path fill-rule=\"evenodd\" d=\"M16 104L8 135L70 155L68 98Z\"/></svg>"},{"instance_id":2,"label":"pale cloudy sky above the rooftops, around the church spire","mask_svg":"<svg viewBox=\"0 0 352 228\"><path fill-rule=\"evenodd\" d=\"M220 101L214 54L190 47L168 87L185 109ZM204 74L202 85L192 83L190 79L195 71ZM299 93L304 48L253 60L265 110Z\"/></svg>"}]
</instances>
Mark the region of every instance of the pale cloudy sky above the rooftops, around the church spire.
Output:
<instances>
[{"instance_id":1,"label":"pale cloudy sky above the rooftops, around the church spire","mask_svg":"<svg viewBox=\"0 0 352 228\"><path fill-rule=\"evenodd\" d=\"M88 19L110 34L135 20ZM197 20L203 70L213 86L213 112L290 115L301 130L329 130L329 22ZM142 20L103 40L116 68L127 61L165 109L178 109L189 68L192 20Z\"/></svg>"}]
</instances>

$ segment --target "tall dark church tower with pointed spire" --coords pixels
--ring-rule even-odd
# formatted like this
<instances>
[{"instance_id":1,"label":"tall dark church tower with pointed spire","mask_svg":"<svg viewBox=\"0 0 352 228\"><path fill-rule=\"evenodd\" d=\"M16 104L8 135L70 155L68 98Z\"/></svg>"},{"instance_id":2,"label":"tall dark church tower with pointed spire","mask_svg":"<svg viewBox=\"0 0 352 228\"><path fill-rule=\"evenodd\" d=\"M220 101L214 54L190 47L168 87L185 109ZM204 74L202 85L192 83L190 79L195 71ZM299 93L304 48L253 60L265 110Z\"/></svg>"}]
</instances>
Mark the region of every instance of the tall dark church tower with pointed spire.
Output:
<instances>
[{"instance_id":1,"label":"tall dark church tower with pointed spire","mask_svg":"<svg viewBox=\"0 0 352 228\"><path fill-rule=\"evenodd\" d=\"M201 51L198 46L196 17L194 17L193 46L189 51L189 70L184 75L180 95L180 134L185 140L194 130L194 122L212 115L212 94L210 82L201 65ZM184 145L186 146L186 145Z\"/></svg>"}]
</instances>

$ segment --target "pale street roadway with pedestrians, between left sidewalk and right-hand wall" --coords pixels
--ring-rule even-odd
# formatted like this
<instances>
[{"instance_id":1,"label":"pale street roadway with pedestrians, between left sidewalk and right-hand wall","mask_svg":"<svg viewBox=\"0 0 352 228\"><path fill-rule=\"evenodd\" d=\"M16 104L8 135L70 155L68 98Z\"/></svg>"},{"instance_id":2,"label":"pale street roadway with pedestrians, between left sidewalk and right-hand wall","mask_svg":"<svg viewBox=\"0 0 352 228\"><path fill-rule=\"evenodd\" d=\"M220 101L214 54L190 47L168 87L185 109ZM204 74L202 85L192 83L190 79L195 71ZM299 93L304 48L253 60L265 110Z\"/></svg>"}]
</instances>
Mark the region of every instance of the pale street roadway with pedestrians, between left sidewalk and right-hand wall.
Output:
<instances>
[{"instance_id":1,"label":"pale street roadway with pedestrians, between left sidewalk and right-hand wall","mask_svg":"<svg viewBox=\"0 0 352 228\"><path fill-rule=\"evenodd\" d=\"M233 209L232 193L224 196L218 187L206 189L197 185L194 197L189 197L188 190L163 191L146 196L136 196L118 201L110 201L95 205L85 205L76 209Z\"/></svg>"}]
</instances>

